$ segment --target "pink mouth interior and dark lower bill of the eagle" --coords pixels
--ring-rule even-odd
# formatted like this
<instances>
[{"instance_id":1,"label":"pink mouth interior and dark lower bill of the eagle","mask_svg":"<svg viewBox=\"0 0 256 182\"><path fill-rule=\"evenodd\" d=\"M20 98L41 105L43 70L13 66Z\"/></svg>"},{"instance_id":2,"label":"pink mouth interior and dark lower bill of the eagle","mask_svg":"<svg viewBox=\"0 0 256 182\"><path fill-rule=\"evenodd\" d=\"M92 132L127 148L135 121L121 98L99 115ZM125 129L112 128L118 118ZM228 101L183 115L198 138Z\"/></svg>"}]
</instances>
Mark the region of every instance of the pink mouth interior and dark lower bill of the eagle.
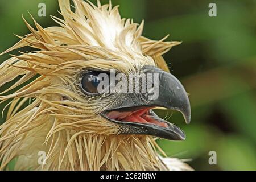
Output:
<instances>
[{"instance_id":1,"label":"pink mouth interior and dark lower bill of the eagle","mask_svg":"<svg viewBox=\"0 0 256 182\"><path fill-rule=\"evenodd\" d=\"M121 134L152 135L170 140L185 140L179 127L158 117L156 107L128 107L105 111L102 117L121 126Z\"/></svg>"}]
</instances>

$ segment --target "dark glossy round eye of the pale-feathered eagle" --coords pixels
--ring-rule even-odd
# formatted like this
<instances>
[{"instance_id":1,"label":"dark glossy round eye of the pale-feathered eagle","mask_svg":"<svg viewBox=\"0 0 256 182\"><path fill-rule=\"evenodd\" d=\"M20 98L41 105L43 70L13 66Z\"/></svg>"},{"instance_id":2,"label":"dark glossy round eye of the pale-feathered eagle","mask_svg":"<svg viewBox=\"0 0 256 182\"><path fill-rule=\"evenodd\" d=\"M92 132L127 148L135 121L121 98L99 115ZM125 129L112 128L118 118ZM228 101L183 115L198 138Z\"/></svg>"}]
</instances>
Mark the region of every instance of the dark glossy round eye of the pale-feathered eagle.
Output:
<instances>
[{"instance_id":1,"label":"dark glossy round eye of the pale-feathered eagle","mask_svg":"<svg viewBox=\"0 0 256 182\"><path fill-rule=\"evenodd\" d=\"M82 89L89 95L101 94L98 85L104 81L104 77L100 77L101 72L90 71L86 73L81 80Z\"/></svg>"}]
</instances>

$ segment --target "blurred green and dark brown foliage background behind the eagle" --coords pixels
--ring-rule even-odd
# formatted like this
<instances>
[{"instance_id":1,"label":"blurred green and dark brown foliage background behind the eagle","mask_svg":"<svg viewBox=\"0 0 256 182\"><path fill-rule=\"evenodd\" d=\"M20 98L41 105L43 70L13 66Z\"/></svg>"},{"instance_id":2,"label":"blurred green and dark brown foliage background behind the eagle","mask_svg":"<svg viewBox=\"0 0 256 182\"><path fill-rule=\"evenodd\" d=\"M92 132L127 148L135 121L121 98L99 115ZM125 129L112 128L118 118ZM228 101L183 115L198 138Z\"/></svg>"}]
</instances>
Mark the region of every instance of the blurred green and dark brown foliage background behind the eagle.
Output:
<instances>
[{"instance_id":1,"label":"blurred green and dark brown foliage background behind the eagle","mask_svg":"<svg viewBox=\"0 0 256 182\"><path fill-rule=\"evenodd\" d=\"M46 17L37 15L41 2L46 3ZM212 2L217 5L213 18L208 15ZM256 1L113 0L113 4L120 5L123 18L145 20L144 36L159 40L170 34L168 40L183 42L164 59L190 93L192 123L185 125L179 113L158 111L187 133L184 142L159 140L166 154L184 159L196 170L256 170ZM30 11L48 27L56 26L50 15L60 17L57 10L57 0L0 1L0 52L18 42L13 33L28 34L22 14L32 23ZM0 62L8 57L1 56ZM4 106L0 105L1 111ZM210 151L217 152L217 165L209 164Z\"/></svg>"}]
</instances>

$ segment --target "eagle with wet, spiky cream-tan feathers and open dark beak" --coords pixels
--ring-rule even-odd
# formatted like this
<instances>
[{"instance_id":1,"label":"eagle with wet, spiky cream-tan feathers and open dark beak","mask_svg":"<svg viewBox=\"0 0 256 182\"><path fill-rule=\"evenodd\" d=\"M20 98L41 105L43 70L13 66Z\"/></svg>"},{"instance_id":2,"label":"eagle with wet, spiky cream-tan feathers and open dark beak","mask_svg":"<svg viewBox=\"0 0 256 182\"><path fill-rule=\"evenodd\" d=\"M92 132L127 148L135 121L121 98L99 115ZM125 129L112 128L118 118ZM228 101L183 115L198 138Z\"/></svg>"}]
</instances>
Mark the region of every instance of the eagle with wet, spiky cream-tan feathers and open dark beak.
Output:
<instances>
[{"instance_id":1,"label":"eagle with wet, spiky cream-tan feathers and open dark beak","mask_svg":"<svg viewBox=\"0 0 256 182\"><path fill-rule=\"evenodd\" d=\"M11 82L0 94L1 102L9 102L0 126L0 169L14 159L16 170L191 169L160 156L156 138L184 140L185 134L152 111L178 110L190 122L188 95L162 57L180 42L143 37L143 22L121 19L111 2L73 3L75 13L69 0L59 0L64 19L52 16L56 27L42 28L31 16L35 30L23 18L31 33L1 54L35 48L0 65L0 87ZM110 78L113 70L148 80L158 75L158 97L150 99L152 89L98 92L105 80L100 75Z\"/></svg>"}]
</instances>

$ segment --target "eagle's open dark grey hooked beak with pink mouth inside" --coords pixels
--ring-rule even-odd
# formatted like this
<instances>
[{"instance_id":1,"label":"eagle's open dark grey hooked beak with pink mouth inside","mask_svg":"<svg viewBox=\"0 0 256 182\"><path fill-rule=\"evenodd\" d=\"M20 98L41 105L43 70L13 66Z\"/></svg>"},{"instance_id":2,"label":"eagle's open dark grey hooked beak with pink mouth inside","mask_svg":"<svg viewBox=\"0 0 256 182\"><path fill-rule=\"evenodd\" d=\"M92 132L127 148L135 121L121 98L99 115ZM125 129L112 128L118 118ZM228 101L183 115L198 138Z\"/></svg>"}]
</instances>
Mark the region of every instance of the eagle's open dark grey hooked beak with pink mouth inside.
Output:
<instances>
[{"instance_id":1,"label":"eagle's open dark grey hooked beak with pink mouth inside","mask_svg":"<svg viewBox=\"0 0 256 182\"><path fill-rule=\"evenodd\" d=\"M152 111L164 107L180 111L188 124L191 120L191 107L188 94L176 77L162 69L144 66L145 75L158 76L157 97L152 99L152 89L146 94L124 94L122 100L104 111L102 117L120 126L119 134L152 135L169 140L184 140L185 133L179 127L159 118Z\"/></svg>"}]
</instances>

